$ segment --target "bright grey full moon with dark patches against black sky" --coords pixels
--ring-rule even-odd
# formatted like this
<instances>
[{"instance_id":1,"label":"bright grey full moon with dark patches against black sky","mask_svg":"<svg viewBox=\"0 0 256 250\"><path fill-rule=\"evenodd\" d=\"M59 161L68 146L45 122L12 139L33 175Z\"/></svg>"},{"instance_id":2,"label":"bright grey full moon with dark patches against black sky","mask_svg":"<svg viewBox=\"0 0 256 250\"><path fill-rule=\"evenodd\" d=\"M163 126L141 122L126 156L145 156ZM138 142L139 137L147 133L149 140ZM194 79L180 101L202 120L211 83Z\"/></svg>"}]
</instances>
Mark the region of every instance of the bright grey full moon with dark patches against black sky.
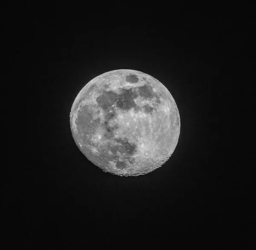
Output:
<instances>
[{"instance_id":1,"label":"bright grey full moon with dark patches against black sky","mask_svg":"<svg viewBox=\"0 0 256 250\"><path fill-rule=\"evenodd\" d=\"M113 70L81 89L70 127L76 145L94 165L111 174L138 176L171 157L180 115L160 81L137 70Z\"/></svg>"}]
</instances>

